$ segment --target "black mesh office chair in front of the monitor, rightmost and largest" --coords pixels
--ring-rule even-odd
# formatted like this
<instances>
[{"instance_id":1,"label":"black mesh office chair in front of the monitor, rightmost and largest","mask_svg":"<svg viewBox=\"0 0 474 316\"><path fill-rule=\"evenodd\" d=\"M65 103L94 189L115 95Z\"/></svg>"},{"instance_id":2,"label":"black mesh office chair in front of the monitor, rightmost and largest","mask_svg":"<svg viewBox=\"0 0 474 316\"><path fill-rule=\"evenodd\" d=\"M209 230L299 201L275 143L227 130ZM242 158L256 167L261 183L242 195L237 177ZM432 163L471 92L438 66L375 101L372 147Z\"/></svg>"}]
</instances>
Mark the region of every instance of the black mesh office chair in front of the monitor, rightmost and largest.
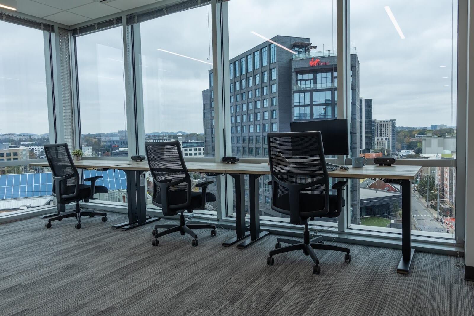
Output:
<instances>
[{"instance_id":1,"label":"black mesh office chair in front of the monitor, rightmost and largest","mask_svg":"<svg viewBox=\"0 0 474 316\"><path fill-rule=\"evenodd\" d=\"M345 261L350 262L348 248L326 245L322 237L310 240L308 221L314 217L337 217L345 206L342 192L346 181L332 186L337 195L329 194L329 177L322 145L321 132L268 133L268 158L272 180L272 209L290 215L290 222L304 225L303 242L278 238L275 250L270 251L267 264L273 265L273 255L302 250L314 261L313 273L319 274L319 260L313 249L346 252ZM282 248L281 242L290 246Z\"/></svg>"}]
</instances>

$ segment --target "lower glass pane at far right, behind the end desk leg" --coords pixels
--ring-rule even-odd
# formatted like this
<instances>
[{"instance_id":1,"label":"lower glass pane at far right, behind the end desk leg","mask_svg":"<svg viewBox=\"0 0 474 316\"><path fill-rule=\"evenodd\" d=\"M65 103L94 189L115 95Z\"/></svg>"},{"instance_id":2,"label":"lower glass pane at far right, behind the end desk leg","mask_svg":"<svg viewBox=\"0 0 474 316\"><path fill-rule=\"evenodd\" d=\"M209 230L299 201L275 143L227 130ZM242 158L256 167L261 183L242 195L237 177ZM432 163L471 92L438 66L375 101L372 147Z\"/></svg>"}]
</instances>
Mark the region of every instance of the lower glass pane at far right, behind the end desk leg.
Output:
<instances>
[{"instance_id":1,"label":"lower glass pane at far right, behind the end desk leg","mask_svg":"<svg viewBox=\"0 0 474 316\"><path fill-rule=\"evenodd\" d=\"M352 204L351 228L358 225L401 230L401 188L383 180L360 183L360 204ZM456 168L424 167L411 187L413 231L443 233L454 238L456 219Z\"/></svg>"}]
</instances>

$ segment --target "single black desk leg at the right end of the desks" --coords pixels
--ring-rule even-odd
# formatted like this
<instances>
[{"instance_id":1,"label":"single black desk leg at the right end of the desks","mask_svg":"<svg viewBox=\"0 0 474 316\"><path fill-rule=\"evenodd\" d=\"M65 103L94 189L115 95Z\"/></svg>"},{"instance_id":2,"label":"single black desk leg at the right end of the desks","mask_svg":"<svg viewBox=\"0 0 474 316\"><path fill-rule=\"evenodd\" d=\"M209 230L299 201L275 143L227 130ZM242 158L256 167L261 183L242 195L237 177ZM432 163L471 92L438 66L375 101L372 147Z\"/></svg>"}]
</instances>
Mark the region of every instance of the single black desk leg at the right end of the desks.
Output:
<instances>
[{"instance_id":1,"label":"single black desk leg at the right end of the desks","mask_svg":"<svg viewBox=\"0 0 474 316\"><path fill-rule=\"evenodd\" d=\"M401 180L401 253L397 272L408 274L415 249L411 248L411 182Z\"/></svg>"}]
</instances>

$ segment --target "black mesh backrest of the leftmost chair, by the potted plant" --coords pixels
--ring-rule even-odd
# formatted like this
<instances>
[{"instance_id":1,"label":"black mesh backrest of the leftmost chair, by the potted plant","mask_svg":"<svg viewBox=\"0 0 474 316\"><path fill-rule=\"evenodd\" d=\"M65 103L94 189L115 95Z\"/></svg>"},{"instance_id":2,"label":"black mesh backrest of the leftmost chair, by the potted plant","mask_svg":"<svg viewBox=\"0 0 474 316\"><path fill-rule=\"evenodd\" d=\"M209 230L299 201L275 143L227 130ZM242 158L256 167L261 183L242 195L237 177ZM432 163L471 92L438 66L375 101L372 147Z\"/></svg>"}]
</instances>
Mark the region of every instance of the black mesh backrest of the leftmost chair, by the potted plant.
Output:
<instances>
[{"instance_id":1,"label":"black mesh backrest of the leftmost chair, by the potted plant","mask_svg":"<svg viewBox=\"0 0 474 316\"><path fill-rule=\"evenodd\" d=\"M67 144L47 144L44 145L46 159L53 172L53 195L61 203L63 198L70 198L78 194L79 173L74 166L73 158L69 152ZM60 180L61 177L70 176L67 179ZM57 196L56 185L59 182L60 191Z\"/></svg>"}]
</instances>

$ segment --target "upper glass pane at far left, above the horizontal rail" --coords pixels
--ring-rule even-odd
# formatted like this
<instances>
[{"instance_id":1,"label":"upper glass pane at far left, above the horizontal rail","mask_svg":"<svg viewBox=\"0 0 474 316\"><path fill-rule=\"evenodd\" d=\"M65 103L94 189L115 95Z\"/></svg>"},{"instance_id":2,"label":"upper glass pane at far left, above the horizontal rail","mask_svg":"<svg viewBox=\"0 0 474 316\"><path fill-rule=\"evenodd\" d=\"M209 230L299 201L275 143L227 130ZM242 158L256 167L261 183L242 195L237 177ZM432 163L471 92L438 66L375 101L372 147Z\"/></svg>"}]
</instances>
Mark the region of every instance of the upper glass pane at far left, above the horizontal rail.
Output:
<instances>
[{"instance_id":1,"label":"upper glass pane at far left, above the horizontal rail","mask_svg":"<svg viewBox=\"0 0 474 316\"><path fill-rule=\"evenodd\" d=\"M0 21L0 163L45 158L49 143L45 35ZM46 47L48 48L48 47Z\"/></svg>"}]
</instances>

